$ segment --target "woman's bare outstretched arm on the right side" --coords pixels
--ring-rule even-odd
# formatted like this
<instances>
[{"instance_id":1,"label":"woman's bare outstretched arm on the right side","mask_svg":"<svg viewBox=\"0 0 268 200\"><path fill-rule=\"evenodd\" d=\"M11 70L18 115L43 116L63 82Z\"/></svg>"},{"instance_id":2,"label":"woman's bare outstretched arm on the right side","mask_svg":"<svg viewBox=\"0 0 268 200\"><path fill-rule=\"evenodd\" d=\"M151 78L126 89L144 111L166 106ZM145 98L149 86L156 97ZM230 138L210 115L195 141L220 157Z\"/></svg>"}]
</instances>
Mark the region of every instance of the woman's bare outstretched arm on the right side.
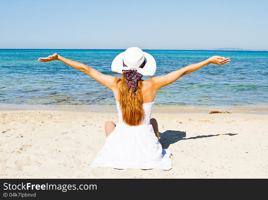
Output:
<instances>
[{"instance_id":1,"label":"woman's bare outstretched arm on the right side","mask_svg":"<svg viewBox=\"0 0 268 200\"><path fill-rule=\"evenodd\" d=\"M153 78L148 79L148 81L151 82L151 86L155 89L158 90L161 87L164 87L168 84L171 84L172 82L178 80L181 78L183 75L189 74L191 72L194 72L208 64L217 64L217 65L225 65L230 62L230 58L224 58L221 56L212 56L211 58L208 58L202 62L188 65L184 68L181 68L177 71L171 72L169 74L163 75L163 76L155 76Z\"/></svg>"}]
</instances>

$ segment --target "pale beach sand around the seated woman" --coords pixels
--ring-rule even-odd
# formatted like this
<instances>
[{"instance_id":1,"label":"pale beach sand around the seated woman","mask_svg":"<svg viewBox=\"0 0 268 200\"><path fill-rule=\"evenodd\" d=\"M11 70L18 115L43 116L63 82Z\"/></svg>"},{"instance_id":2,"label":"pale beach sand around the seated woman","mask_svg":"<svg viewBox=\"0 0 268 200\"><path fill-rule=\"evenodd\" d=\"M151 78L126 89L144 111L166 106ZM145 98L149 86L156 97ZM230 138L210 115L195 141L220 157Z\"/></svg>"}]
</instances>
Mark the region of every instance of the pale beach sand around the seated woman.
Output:
<instances>
[{"instance_id":1,"label":"pale beach sand around the seated woman","mask_svg":"<svg viewBox=\"0 0 268 200\"><path fill-rule=\"evenodd\" d=\"M268 115L153 111L171 170L90 168L115 111L0 111L1 178L268 178Z\"/></svg>"}]
</instances>

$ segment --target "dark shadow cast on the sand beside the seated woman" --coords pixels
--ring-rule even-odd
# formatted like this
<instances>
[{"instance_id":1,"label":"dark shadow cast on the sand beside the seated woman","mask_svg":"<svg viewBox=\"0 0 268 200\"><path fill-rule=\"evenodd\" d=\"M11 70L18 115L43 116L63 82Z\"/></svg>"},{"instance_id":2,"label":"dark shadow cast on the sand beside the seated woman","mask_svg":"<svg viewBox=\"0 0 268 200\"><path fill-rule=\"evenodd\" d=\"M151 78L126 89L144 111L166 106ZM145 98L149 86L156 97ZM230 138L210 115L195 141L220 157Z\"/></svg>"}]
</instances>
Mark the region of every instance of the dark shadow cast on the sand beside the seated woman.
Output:
<instances>
[{"instance_id":1,"label":"dark shadow cast on the sand beside the seated woman","mask_svg":"<svg viewBox=\"0 0 268 200\"><path fill-rule=\"evenodd\" d=\"M207 138L207 137L213 137L213 136L219 136L219 135L237 135L238 133L226 133L226 134L217 134L217 135L198 135L195 137L185 138L186 132L184 131L172 131L167 130L163 133L159 133L160 135L160 143L164 149L167 149L169 145L178 142L180 140L189 140L189 139L197 139L197 138Z\"/></svg>"}]
</instances>

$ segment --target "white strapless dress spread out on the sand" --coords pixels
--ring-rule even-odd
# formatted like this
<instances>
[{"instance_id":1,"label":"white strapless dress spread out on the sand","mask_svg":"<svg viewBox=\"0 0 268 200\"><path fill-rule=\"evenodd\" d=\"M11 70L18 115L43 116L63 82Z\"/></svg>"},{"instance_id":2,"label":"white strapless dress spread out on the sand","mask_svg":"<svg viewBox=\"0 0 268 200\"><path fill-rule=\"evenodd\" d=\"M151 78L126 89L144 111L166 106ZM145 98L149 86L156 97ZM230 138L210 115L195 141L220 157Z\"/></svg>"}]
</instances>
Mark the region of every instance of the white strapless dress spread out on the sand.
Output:
<instances>
[{"instance_id":1,"label":"white strapless dress spread out on the sand","mask_svg":"<svg viewBox=\"0 0 268 200\"><path fill-rule=\"evenodd\" d=\"M90 167L116 169L163 169L170 170L172 163L168 149L162 149L150 124L154 102L143 104L145 119L138 126L129 126L122 120L119 102L116 102L119 122L105 139Z\"/></svg>"}]
</instances>

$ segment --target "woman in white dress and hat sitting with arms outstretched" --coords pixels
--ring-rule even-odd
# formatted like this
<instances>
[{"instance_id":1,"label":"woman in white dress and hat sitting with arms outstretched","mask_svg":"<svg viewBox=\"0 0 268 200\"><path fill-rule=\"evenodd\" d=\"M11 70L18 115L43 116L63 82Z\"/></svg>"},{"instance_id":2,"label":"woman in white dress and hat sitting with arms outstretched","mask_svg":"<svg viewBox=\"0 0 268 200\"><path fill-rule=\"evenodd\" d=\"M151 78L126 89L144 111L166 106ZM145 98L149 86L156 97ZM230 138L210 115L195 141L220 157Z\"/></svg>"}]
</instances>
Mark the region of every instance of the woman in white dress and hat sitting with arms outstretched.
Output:
<instances>
[{"instance_id":1,"label":"woman in white dress and hat sitting with arms outstretched","mask_svg":"<svg viewBox=\"0 0 268 200\"><path fill-rule=\"evenodd\" d=\"M143 75L154 74L156 62L150 54L138 47L128 48L113 60L112 71L121 73L121 79L104 75L87 65L63 58L58 54L38 59L41 62L53 60L62 61L85 72L110 88L115 95L119 122L117 125L112 121L105 123L105 144L91 167L163 170L170 170L172 163L168 150L162 149L159 142L157 121L150 118L157 90L208 64L225 65L230 61L229 58L213 56L169 74L142 80Z\"/></svg>"}]
</instances>

